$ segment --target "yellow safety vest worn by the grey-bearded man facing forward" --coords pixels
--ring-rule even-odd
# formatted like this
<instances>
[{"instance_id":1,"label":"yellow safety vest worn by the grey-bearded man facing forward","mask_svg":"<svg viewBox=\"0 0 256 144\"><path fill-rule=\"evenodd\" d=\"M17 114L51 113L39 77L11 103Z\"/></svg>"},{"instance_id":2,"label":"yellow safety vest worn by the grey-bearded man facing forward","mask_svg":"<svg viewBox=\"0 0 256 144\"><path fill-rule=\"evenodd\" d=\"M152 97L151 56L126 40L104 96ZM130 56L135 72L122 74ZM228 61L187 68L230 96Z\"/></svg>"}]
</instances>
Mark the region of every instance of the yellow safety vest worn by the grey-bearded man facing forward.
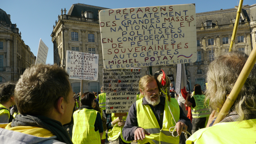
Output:
<instances>
[{"instance_id":1,"label":"yellow safety vest worn by the grey-bearded man facing forward","mask_svg":"<svg viewBox=\"0 0 256 144\"><path fill-rule=\"evenodd\" d=\"M143 99L136 101L137 109L137 120L138 126L147 130L150 133L149 136L146 135L146 138L143 140L137 140L139 144L150 143L150 144L178 144L179 137L173 137L169 132L169 128L175 126L175 122L180 119L180 107L175 98L171 98L169 103L172 114L169 111L167 102L165 101L165 109L163 113L163 126L160 130L160 126L157 122L151 107L149 105L142 105ZM174 128L171 129L173 131Z\"/></svg>"}]
</instances>

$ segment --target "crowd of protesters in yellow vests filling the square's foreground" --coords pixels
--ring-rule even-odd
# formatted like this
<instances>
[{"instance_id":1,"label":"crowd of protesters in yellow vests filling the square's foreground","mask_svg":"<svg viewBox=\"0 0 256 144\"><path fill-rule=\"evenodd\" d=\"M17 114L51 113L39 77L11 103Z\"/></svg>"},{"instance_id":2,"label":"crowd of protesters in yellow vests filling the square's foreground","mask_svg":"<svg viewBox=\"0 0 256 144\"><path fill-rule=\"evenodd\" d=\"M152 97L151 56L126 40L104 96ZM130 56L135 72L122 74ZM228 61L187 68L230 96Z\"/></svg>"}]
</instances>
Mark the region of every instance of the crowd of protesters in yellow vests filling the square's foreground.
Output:
<instances>
[{"instance_id":1,"label":"crowd of protesters in yellow vests filling the square's foreground","mask_svg":"<svg viewBox=\"0 0 256 144\"><path fill-rule=\"evenodd\" d=\"M211 62L206 92L195 84L185 99L191 119L175 99L173 84L166 98L151 75L141 77L127 116L115 117L106 114L103 87L75 94L63 68L33 65L17 83L0 85L0 144L104 144L106 139L109 144L255 143L255 65L229 113L213 125L247 59L235 51Z\"/></svg>"}]
</instances>

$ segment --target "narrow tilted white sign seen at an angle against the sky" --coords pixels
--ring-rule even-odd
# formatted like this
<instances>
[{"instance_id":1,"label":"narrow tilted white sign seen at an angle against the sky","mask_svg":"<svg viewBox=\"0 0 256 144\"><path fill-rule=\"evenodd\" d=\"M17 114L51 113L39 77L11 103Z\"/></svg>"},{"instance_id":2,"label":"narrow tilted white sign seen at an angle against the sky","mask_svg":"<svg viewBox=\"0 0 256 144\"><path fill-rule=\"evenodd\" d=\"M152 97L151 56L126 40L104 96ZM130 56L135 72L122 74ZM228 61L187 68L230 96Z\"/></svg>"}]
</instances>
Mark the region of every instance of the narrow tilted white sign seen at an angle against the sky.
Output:
<instances>
[{"instance_id":1,"label":"narrow tilted white sign seen at an angle against the sky","mask_svg":"<svg viewBox=\"0 0 256 144\"><path fill-rule=\"evenodd\" d=\"M45 43L40 38L38 51L37 51L37 59L35 60L35 64L39 64L39 63L45 64L46 63L48 49L49 48L45 45Z\"/></svg>"}]
</instances>

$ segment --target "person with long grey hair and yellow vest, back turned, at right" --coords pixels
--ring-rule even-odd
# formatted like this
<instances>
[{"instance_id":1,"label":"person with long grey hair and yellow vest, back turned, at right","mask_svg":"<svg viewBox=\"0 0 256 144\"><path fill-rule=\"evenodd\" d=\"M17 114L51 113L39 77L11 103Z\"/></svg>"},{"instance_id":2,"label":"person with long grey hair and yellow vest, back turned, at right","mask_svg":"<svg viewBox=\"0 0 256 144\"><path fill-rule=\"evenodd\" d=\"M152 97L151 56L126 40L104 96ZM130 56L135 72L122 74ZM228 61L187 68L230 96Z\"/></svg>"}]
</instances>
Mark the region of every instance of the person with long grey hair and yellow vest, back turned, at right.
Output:
<instances>
[{"instance_id":1,"label":"person with long grey hair and yellow vest, back turned, at right","mask_svg":"<svg viewBox=\"0 0 256 144\"><path fill-rule=\"evenodd\" d=\"M256 65L231 106L226 117L212 126L227 96L236 83L248 55L238 51L218 56L208 67L205 103L212 110L208 128L200 129L186 141L191 143L255 143L256 135Z\"/></svg>"}]
</instances>

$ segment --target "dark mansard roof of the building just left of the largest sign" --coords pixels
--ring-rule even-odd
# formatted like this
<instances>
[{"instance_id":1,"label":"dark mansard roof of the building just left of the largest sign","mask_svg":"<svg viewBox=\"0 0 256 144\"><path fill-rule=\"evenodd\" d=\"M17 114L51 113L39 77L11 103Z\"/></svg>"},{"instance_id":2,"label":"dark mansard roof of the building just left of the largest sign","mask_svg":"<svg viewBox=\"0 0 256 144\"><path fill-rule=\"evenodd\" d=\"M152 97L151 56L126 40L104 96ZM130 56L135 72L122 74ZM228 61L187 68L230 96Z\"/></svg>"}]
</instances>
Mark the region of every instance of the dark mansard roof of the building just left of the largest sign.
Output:
<instances>
[{"instance_id":1,"label":"dark mansard roof of the building just left of the largest sign","mask_svg":"<svg viewBox=\"0 0 256 144\"><path fill-rule=\"evenodd\" d=\"M109 8L103 8L103 7L97 7L93 5L87 5L87 4L72 4L71 8L68 10L67 15L71 16L79 16L81 17L81 12L90 11L93 12L93 19L98 19L98 11L99 10L106 10Z\"/></svg>"}]
</instances>

